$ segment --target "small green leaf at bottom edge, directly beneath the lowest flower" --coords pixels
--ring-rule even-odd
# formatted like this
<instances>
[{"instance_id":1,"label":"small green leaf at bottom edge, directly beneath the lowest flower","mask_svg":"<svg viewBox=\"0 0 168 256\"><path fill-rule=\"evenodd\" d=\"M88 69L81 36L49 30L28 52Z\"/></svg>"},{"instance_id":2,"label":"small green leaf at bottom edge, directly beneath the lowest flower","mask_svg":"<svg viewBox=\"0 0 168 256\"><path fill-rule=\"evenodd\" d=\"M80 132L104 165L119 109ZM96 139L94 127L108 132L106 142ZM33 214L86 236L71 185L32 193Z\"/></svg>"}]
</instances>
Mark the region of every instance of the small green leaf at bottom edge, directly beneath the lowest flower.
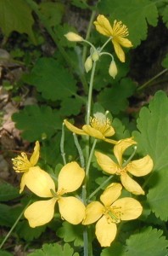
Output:
<instances>
[{"instance_id":1,"label":"small green leaf at bottom edge, directly beneath the lowest flower","mask_svg":"<svg viewBox=\"0 0 168 256\"><path fill-rule=\"evenodd\" d=\"M125 250L125 247L121 245L119 242L113 242L109 248L105 248L102 250L102 253L100 254L100 256L111 256L111 255L123 256L124 250Z\"/></svg>"}]
</instances>

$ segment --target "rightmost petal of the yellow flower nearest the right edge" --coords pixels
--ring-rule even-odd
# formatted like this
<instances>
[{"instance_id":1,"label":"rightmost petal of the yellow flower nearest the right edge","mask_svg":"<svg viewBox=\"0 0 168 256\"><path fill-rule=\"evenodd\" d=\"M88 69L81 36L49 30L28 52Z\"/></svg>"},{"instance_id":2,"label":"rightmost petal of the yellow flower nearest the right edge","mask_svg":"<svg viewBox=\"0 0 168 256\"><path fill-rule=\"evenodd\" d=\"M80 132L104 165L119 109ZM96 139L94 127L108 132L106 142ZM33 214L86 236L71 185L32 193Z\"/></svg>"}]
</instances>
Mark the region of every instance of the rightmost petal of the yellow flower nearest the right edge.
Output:
<instances>
[{"instance_id":1,"label":"rightmost petal of the yellow flower nearest the right edge","mask_svg":"<svg viewBox=\"0 0 168 256\"><path fill-rule=\"evenodd\" d=\"M146 155L140 160L134 160L127 165L127 171L132 175L140 177L147 175L152 171L154 166L153 160L149 155Z\"/></svg>"}]
</instances>

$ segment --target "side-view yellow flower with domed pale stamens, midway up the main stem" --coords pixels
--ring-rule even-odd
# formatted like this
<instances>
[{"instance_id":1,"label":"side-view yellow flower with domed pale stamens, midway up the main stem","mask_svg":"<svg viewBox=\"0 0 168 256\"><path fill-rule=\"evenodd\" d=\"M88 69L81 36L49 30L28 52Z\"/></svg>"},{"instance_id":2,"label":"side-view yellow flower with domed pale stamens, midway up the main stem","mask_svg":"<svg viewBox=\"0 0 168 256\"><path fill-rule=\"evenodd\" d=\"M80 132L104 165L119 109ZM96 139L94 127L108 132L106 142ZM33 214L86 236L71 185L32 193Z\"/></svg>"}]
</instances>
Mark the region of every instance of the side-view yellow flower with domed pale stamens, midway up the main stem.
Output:
<instances>
[{"instance_id":1,"label":"side-view yellow flower with domed pale stamens, midway up the main stem","mask_svg":"<svg viewBox=\"0 0 168 256\"><path fill-rule=\"evenodd\" d=\"M115 134L114 128L110 125L110 121L104 113L95 113L94 117L90 119L90 125L83 125L82 129L70 124L67 120L64 120L66 127L79 135L89 135L91 137L104 140L107 143L116 143L114 140L106 137L111 137Z\"/></svg>"}]
</instances>

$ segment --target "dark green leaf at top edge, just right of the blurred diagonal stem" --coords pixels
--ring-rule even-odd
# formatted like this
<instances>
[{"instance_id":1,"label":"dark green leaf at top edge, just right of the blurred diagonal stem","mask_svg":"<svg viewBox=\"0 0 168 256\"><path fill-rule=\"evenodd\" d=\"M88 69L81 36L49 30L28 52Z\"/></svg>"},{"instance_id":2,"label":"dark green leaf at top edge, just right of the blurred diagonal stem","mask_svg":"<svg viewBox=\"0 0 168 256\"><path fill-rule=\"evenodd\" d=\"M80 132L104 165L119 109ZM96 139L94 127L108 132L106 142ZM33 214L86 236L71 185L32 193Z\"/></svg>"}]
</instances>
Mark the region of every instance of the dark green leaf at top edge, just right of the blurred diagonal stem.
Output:
<instances>
[{"instance_id":1,"label":"dark green leaf at top edge, just right of the blurred diagonal stem","mask_svg":"<svg viewBox=\"0 0 168 256\"><path fill-rule=\"evenodd\" d=\"M48 26L56 26L60 23L64 15L64 4L44 2L39 4L42 15L48 19Z\"/></svg>"}]
</instances>

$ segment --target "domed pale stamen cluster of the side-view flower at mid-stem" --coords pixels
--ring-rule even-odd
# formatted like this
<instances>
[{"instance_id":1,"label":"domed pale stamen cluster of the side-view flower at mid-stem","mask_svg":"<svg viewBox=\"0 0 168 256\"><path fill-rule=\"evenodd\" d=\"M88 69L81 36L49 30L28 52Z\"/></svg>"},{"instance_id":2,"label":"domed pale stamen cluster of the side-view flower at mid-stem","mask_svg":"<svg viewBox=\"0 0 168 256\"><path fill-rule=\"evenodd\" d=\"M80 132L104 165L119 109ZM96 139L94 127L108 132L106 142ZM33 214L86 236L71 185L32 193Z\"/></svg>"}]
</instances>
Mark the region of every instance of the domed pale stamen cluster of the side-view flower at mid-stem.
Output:
<instances>
[{"instance_id":1,"label":"domed pale stamen cluster of the side-view flower at mid-stem","mask_svg":"<svg viewBox=\"0 0 168 256\"><path fill-rule=\"evenodd\" d=\"M90 119L90 125L102 134L109 131L111 127L110 120L103 113L95 113L94 117Z\"/></svg>"}]
</instances>

